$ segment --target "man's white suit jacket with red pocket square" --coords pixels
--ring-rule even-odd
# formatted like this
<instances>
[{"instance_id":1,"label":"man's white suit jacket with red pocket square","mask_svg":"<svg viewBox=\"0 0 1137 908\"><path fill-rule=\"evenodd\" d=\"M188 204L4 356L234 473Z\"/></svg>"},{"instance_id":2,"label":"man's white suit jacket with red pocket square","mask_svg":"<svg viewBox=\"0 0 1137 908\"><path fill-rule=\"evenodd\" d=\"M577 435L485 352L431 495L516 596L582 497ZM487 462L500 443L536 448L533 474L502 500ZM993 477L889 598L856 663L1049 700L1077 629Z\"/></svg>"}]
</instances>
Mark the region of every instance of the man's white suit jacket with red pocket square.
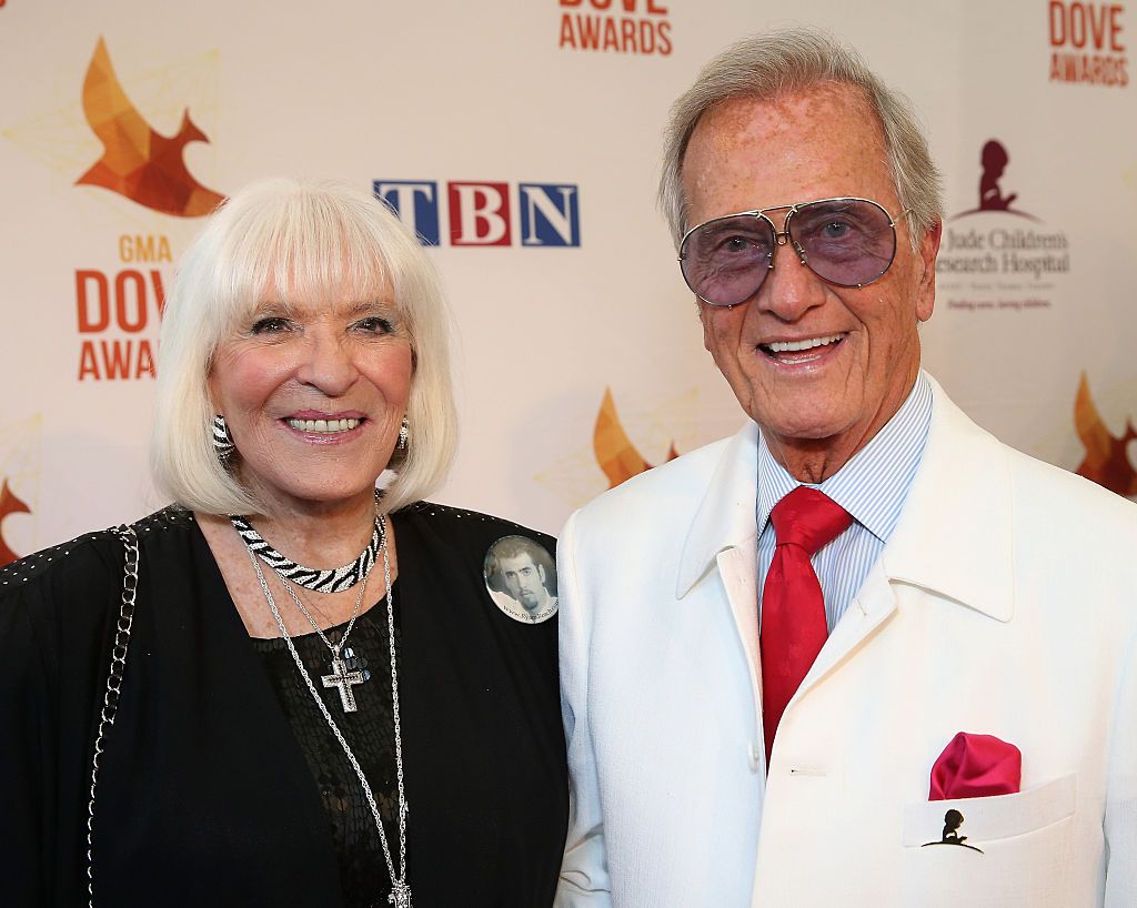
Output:
<instances>
[{"instance_id":1,"label":"man's white suit jacket with red pocket square","mask_svg":"<svg viewBox=\"0 0 1137 908\"><path fill-rule=\"evenodd\" d=\"M557 906L1137 906L1137 506L933 389L901 520L769 772L757 427L570 518ZM928 801L961 731L1020 748L1020 793ZM922 847L951 808L979 850Z\"/></svg>"}]
</instances>

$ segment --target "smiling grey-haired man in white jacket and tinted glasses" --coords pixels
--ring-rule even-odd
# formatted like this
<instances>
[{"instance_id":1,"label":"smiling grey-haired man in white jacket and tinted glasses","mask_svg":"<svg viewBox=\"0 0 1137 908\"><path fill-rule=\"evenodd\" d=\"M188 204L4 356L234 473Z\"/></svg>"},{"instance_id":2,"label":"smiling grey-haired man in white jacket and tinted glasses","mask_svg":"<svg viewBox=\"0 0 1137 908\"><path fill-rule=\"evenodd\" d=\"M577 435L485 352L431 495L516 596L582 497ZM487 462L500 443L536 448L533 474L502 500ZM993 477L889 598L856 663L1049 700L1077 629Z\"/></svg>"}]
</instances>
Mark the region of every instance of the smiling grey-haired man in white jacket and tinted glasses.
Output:
<instances>
[{"instance_id":1,"label":"smiling grey-haired man in white jacket and tinted glasses","mask_svg":"<svg viewBox=\"0 0 1137 908\"><path fill-rule=\"evenodd\" d=\"M938 184L823 35L675 105L661 195L752 422L565 527L558 905L1137 905L1137 508L920 370Z\"/></svg>"}]
</instances>

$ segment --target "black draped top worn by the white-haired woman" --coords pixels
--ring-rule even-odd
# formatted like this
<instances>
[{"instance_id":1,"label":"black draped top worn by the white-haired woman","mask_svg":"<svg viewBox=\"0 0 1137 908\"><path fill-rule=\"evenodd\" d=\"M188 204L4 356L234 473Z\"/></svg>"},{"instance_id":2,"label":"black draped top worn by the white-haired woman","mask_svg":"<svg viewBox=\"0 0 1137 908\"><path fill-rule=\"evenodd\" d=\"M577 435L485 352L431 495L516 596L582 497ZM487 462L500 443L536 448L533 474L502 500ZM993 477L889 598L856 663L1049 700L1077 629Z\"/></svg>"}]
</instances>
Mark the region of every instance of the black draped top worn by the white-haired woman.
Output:
<instances>
[{"instance_id":1,"label":"black draped top worn by the white-haired woman","mask_svg":"<svg viewBox=\"0 0 1137 908\"><path fill-rule=\"evenodd\" d=\"M556 620L508 617L482 577L497 539L551 540L435 505L392 519L414 903L551 905L567 822ZM139 533L139 607L100 760L96 905L385 906L385 863L374 893L343 891L323 781L197 523L166 509ZM94 533L0 569L0 891L13 908L86 905L122 563L118 540ZM372 611L385 641L385 607ZM384 656L367 653L367 683L387 678L389 697Z\"/></svg>"}]
</instances>

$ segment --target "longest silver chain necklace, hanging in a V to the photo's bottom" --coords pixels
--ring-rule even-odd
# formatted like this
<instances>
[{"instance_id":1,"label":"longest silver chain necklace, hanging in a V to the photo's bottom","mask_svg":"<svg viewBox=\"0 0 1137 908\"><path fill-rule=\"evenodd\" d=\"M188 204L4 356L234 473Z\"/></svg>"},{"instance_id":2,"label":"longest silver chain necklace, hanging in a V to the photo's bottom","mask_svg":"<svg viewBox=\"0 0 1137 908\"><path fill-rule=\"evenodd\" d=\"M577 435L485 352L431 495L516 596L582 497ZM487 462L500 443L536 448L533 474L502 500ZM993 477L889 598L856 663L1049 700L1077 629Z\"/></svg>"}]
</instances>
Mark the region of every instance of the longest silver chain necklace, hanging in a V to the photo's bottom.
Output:
<instances>
[{"instance_id":1,"label":"longest silver chain necklace, hanging in a V to the photo's bottom","mask_svg":"<svg viewBox=\"0 0 1137 908\"><path fill-rule=\"evenodd\" d=\"M339 741L340 747L343 748L343 753L347 756L348 763L351 764L351 768L355 770L355 774L359 780L359 785L363 788L364 797L367 799L367 806L371 808L371 815L375 820L375 828L379 830L379 842L383 847L383 858L387 860L387 870L391 875L391 892L388 894L387 901L390 905L393 905L395 908L410 908L410 886L407 883L407 813L409 809L407 807L406 789L402 784L402 727L399 720L399 673L395 659L395 600L391 595L391 560L387 552L387 518L382 515L379 517L379 525L381 530L380 535L382 536L380 551L383 556L383 581L387 584L387 640L389 655L391 657L391 715L395 718L395 769L399 788L398 873L395 872L395 861L391 860L391 849L387 843L387 833L383 831L383 820L379 815L379 805L375 803L375 795L372 794L371 785L367 783L367 776L364 775L363 767L359 766L359 760L356 759L347 739L343 736L339 725L335 724L335 719L332 718L332 714L327 710L323 699L316 691L316 685L312 682L312 676L308 674L308 669L304 667L304 663L300 660L300 653L296 651L296 644L292 642L292 638L289 636L288 630L284 627L284 619L281 617L281 614L276 608L276 602L273 599L273 594L268 589L268 584L265 582L265 575L260 570L260 565L257 564L257 557L251 551L249 552L249 561L252 564L252 569L256 572L257 580L260 582L260 591L265 594L268 608L272 609L273 617L276 619L276 626L280 627L281 636L284 638L289 652L292 653L292 661L296 663L296 667L299 669L300 676L304 678L304 683L308 686L308 691L312 693L312 699L315 700L316 706L319 707L319 711L323 714L324 720L327 723L327 727L332 730L332 734L335 735L335 740Z\"/></svg>"}]
</instances>

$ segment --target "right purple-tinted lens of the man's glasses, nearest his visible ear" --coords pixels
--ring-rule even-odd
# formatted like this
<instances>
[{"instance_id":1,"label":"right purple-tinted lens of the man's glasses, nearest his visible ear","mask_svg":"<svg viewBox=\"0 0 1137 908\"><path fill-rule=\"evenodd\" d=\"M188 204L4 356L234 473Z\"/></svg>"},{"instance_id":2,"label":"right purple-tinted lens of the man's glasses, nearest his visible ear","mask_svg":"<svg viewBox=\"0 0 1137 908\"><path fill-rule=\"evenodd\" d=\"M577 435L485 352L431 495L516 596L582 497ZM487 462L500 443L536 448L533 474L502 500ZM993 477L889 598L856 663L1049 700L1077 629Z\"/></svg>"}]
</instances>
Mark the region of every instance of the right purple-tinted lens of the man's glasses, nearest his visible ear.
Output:
<instances>
[{"instance_id":1,"label":"right purple-tinted lens of the man's glasses, nearest his visible ear","mask_svg":"<svg viewBox=\"0 0 1137 908\"><path fill-rule=\"evenodd\" d=\"M819 277L841 286L872 283L896 255L888 213L861 199L800 206L789 219L789 235Z\"/></svg>"}]
</instances>

